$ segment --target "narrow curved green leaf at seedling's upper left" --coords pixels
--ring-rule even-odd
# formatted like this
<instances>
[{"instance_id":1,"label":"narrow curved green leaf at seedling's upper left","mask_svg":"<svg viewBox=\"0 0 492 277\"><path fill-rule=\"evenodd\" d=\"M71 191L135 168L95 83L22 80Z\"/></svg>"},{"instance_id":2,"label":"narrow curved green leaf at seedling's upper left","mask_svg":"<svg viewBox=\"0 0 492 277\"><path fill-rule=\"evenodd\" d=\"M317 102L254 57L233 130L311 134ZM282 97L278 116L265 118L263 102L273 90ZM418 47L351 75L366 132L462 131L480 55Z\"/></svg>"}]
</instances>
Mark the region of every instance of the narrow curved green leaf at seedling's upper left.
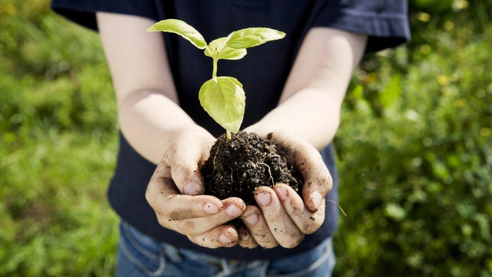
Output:
<instances>
[{"instance_id":1,"label":"narrow curved green leaf at seedling's upper left","mask_svg":"<svg viewBox=\"0 0 492 277\"><path fill-rule=\"evenodd\" d=\"M169 32L175 33L189 40L193 45L200 49L207 47L207 42L203 36L192 26L178 19L166 19L152 25L148 32Z\"/></svg>"}]
</instances>

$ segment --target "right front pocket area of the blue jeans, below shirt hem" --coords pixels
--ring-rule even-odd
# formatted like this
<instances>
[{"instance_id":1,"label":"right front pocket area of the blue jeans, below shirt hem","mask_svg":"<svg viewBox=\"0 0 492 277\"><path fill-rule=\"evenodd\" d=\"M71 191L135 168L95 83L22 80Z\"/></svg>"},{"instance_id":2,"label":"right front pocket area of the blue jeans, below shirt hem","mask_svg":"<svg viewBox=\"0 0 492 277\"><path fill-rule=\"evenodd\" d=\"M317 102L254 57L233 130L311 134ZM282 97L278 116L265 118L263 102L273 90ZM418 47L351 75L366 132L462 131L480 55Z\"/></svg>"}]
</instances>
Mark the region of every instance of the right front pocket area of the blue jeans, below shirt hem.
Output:
<instances>
[{"instance_id":1,"label":"right front pocket area of the blue jeans, below shirt hem","mask_svg":"<svg viewBox=\"0 0 492 277\"><path fill-rule=\"evenodd\" d=\"M291 265L296 265L295 269L293 269ZM331 276L334 267L335 253L333 251L331 239L329 239L323 242L320 247L307 253L271 262L267 271L267 276Z\"/></svg>"}]
</instances>

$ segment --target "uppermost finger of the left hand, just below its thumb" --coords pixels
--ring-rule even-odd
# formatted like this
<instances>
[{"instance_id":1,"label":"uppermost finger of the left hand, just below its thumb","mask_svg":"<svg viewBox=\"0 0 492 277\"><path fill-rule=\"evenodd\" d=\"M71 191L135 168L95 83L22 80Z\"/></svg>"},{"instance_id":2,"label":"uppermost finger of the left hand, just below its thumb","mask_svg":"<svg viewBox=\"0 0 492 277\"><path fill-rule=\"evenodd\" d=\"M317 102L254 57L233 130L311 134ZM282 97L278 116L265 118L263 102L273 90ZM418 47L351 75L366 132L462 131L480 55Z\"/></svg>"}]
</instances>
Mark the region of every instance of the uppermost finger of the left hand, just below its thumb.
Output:
<instances>
[{"instance_id":1,"label":"uppermost finger of the left hand, just below its thumb","mask_svg":"<svg viewBox=\"0 0 492 277\"><path fill-rule=\"evenodd\" d=\"M207 216L222 209L222 202L210 195L182 195L170 178L170 170L159 163L147 186L146 198L150 206L171 220Z\"/></svg>"}]
</instances>

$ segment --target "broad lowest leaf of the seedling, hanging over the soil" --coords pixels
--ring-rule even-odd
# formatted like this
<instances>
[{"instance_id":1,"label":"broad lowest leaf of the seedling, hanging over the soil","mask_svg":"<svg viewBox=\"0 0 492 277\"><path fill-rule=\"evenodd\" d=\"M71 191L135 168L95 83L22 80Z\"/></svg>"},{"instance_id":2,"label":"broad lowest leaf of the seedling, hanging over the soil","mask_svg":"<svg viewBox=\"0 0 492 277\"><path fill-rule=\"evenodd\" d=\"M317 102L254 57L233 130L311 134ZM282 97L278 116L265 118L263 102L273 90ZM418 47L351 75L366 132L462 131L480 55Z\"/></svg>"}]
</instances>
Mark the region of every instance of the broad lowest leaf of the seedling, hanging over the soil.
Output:
<instances>
[{"instance_id":1,"label":"broad lowest leaf of the seedling, hanging over the soil","mask_svg":"<svg viewBox=\"0 0 492 277\"><path fill-rule=\"evenodd\" d=\"M205 82L198 93L200 104L220 126L237 133L244 117L246 96L242 84L233 77L217 77Z\"/></svg>"}]
</instances>

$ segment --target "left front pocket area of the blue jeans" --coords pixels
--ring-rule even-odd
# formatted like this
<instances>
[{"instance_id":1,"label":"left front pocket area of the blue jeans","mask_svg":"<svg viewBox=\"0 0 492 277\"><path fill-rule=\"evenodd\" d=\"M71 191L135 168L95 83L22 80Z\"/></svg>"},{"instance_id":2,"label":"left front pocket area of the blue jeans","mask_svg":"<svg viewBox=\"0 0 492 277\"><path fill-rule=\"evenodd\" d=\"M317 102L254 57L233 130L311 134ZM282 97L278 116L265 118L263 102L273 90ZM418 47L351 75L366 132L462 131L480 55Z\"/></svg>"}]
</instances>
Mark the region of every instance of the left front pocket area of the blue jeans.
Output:
<instances>
[{"instance_id":1,"label":"left front pocket area of the blue jeans","mask_svg":"<svg viewBox=\"0 0 492 277\"><path fill-rule=\"evenodd\" d=\"M145 275L163 275L166 267L166 257L163 251L157 250L159 249L158 243L155 247L149 247L149 238L143 236L127 223L121 223L119 240L121 253Z\"/></svg>"}]
</instances>

